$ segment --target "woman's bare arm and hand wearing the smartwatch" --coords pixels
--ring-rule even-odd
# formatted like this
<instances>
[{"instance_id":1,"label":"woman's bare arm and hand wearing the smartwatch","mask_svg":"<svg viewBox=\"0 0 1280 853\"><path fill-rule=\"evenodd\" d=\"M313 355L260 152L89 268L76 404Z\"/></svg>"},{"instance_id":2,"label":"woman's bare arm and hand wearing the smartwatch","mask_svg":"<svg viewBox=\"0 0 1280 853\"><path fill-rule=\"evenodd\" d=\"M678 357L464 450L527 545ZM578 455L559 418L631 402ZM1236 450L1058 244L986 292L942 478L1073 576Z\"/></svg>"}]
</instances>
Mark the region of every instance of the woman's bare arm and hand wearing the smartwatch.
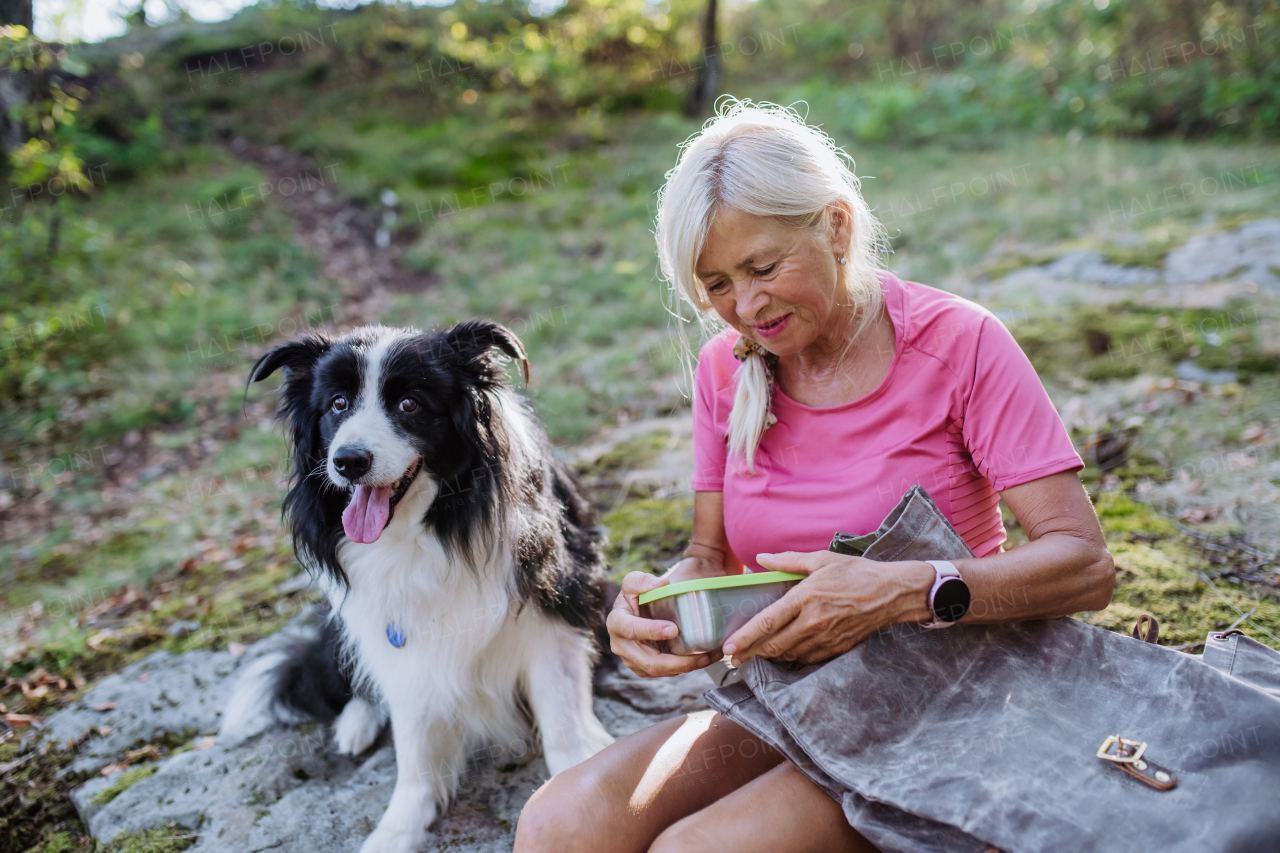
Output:
<instances>
[{"instance_id":1,"label":"woman's bare arm and hand wearing the smartwatch","mask_svg":"<svg viewBox=\"0 0 1280 853\"><path fill-rule=\"evenodd\" d=\"M1111 602L1115 565L1097 514L1074 471L1001 492L1027 532L1020 548L954 560L969 585L964 622L1052 619ZM829 551L758 555L765 569L809 575L724 643L735 666L755 656L812 663L842 654L870 634L933 619L933 567L877 562Z\"/></svg>"}]
</instances>

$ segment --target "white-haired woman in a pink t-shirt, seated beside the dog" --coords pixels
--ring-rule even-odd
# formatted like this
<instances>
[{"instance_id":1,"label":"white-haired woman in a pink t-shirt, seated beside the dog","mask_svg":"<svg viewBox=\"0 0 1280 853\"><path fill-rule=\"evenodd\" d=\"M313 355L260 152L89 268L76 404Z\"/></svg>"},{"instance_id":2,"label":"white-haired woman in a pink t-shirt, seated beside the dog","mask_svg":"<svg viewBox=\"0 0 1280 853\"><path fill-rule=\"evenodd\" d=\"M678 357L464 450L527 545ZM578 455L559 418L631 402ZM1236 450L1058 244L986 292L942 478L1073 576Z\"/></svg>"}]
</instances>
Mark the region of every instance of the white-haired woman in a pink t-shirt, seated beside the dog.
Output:
<instances>
[{"instance_id":1,"label":"white-haired woman in a pink t-shirt, seated beside the dog","mask_svg":"<svg viewBox=\"0 0 1280 853\"><path fill-rule=\"evenodd\" d=\"M653 642L640 593L744 570L808 575L723 654L801 663L890 625L931 622L934 567L827 551L923 485L977 555L965 622L1050 619L1111 599L1115 569L1079 456L1030 362L988 311L879 269L882 231L831 140L781 108L733 104L685 147L658 213L673 289L727 327L698 356L694 529L664 576L627 575L608 629L636 674L719 653ZM1004 500L1029 543L1004 551ZM650 726L529 800L517 853L874 849L840 803L710 711Z\"/></svg>"}]
</instances>

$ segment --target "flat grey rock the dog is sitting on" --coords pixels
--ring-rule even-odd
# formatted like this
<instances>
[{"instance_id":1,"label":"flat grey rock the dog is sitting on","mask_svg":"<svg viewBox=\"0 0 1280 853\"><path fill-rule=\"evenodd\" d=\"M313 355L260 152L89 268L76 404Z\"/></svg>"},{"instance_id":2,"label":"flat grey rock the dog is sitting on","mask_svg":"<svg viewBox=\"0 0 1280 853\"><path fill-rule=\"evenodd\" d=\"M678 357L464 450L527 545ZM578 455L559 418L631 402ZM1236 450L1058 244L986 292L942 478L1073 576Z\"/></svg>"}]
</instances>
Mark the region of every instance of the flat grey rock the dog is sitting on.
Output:
<instances>
[{"instance_id":1,"label":"flat grey rock the dog is sitting on","mask_svg":"<svg viewBox=\"0 0 1280 853\"><path fill-rule=\"evenodd\" d=\"M118 833L180 824L197 835L192 853L356 853L396 786L389 730L357 757L334 752L330 730L323 725L278 726L232 748L219 743L198 748L216 734L239 669L314 630L314 613L307 610L238 660L229 652L155 652L102 679L74 706L50 717L47 736L63 742L104 724L111 727L110 735L81 745L73 762L78 770L120 760L138 740L187 740L184 751L155 765L138 765L154 766L156 772L123 790L114 790L120 772L77 788L72 799L90 833L108 841ZM595 712L605 729L622 736L705 708L701 693L712 686L704 672L654 680L626 669L602 672ZM109 715L92 710L108 702L116 702L118 708ZM492 753L479 751L463 767L442 768L460 776L458 793L431 826L428 849L511 850L520 809L547 779L539 752L536 744L521 745L493 760ZM511 753L524 754L525 763L499 766ZM102 802L109 789L114 795Z\"/></svg>"}]
</instances>

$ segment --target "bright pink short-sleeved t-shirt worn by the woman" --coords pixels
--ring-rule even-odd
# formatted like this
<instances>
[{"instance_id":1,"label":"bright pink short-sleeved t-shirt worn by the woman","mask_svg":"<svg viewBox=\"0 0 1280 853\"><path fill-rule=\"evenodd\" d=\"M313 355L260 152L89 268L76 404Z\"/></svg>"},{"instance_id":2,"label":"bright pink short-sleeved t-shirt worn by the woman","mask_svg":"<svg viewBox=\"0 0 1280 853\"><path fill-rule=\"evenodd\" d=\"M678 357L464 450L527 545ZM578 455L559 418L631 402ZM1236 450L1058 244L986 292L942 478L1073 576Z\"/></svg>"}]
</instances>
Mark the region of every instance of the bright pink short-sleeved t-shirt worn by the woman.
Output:
<instances>
[{"instance_id":1,"label":"bright pink short-sleeved t-shirt worn by the woman","mask_svg":"<svg viewBox=\"0 0 1280 853\"><path fill-rule=\"evenodd\" d=\"M837 530L876 530L922 485L979 557L1005 540L998 492L1084 467L1036 369L987 309L881 273L893 361L879 387L815 409L773 391L755 474L727 464L737 332L703 347L694 380L694 476L724 493L733 553L826 551Z\"/></svg>"}]
</instances>

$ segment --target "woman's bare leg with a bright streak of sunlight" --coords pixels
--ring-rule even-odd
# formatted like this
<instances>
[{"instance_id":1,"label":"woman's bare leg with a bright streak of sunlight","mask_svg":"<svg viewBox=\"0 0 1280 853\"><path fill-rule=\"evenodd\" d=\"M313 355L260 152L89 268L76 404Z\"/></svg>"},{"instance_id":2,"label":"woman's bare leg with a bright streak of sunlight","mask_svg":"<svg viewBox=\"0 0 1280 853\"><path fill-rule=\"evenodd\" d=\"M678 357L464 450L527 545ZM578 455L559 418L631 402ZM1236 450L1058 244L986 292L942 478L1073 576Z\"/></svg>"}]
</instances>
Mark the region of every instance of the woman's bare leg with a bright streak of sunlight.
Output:
<instances>
[{"instance_id":1,"label":"woman's bare leg with a bright streak of sunlight","mask_svg":"<svg viewBox=\"0 0 1280 853\"><path fill-rule=\"evenodd\" d=\"M676 821L782 761L712 711L659 722L538 789L520 816L516 853L643 853Z\"/></svg>"}]
</instances>

